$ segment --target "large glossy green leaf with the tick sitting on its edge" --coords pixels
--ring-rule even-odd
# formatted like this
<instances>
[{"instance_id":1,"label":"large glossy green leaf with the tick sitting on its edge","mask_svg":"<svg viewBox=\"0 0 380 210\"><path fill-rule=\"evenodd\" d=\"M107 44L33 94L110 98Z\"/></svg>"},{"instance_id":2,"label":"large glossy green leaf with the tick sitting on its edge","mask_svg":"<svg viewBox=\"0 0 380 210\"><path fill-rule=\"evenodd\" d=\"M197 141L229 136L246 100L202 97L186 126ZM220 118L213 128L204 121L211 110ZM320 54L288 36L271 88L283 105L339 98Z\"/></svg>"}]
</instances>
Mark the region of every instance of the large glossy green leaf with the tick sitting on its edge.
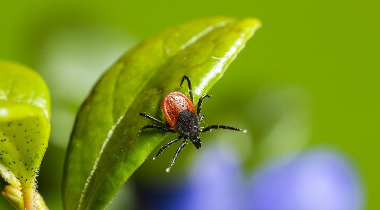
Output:
<instances>
[{"instance_id":1,"label":"large glossy green leaf with the tick sitting on its edge","mask_svg":"<svg viewBox=\"0 0 380 210\"><path fill-rule=\"evenodd\" d=\"M165 137L142 132L146 112L165 119L162 98L192 79L195 101L223 75L260 26L258 20L210 18L179 25L129 50L83 103L67 149L65 209L102 209ZM165 169L163 169L165 170Z\"/></svg>"}]
</instances>

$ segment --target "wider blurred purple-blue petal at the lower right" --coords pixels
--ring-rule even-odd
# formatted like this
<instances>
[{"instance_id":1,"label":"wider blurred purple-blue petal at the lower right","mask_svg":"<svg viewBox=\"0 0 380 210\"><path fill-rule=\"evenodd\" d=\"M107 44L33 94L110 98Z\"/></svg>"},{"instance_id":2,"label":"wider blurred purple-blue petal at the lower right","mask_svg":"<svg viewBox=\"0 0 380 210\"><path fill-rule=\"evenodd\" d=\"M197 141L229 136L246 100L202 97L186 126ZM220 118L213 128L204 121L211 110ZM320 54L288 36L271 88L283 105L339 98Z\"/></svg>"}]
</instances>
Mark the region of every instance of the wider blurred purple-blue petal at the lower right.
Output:
<instances>
[{"instance_id":1,"label":"wider blurred purple-blue petal at the lower right","mask_svg":"<svg viewBox=\"0 0 380 210\"><path fill-rule=\"evenodd\" d=\"M358 178L340 155L308 151L282 166L261 169L254 177L248 206L257 210L357 210L362 191Z\"/></svg>"}]
</instances>

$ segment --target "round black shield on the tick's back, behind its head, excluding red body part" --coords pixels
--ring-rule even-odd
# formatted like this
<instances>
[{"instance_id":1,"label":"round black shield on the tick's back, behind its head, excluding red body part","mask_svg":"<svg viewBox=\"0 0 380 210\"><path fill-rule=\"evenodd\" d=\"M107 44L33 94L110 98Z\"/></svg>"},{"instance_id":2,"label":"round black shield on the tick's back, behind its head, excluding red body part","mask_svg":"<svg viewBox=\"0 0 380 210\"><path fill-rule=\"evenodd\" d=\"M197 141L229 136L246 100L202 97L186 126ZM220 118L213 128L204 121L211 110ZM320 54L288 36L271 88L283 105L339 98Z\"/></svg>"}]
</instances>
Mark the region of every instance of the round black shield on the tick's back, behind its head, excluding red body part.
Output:
<instances>
[{"instance_id":1,"label":"round black shield on the tick's back, behind its head, excluding red body part","mask_svg":"<svg viewBox=\"0 0 380 210\"><path fill-rule=\"evenodd\" d=\"M196 135L199 127L197 115L190 110L183 110L178 115L176 127L183 137Z\"/></svg>"}]
</instances>

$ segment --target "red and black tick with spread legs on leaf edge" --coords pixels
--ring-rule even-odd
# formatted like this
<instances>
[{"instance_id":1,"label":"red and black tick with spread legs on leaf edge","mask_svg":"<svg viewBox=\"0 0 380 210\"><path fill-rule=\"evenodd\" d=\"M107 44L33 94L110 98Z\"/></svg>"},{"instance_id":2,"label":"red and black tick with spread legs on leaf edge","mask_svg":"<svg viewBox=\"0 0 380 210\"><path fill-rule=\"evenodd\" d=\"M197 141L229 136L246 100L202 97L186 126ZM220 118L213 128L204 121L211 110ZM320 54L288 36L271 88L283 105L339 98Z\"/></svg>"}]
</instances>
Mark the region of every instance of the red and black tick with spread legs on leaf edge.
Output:
<instances>
[{"instance_id":1,"label":"red and black tick with spread legs on leaf edge","mask_svg":"<svg viewBox=\"0 0 380 210\"><path fill-rule=\"evenodd\" d=\"M199 127L199 122L202 121L204 116L203 114L200 114L203 99L205 99L206 97L210 98L210 95L203 94L199 98L196 111L193 100L192 82L190 78L188 78L186 75L183 75L179 87L182 87L182 83L184 80L187 81L190 99L186 97L186 95L184 95L183 93L171 92L167 94L162 100L162 111L168 123L164 123L145 113L140 113L140 116L160 124L146 125L142 127L141 130L146 128L156 128L167 132L179 134L179 136L176 139L173 139L164 146L162 146L160 150L157 152L156 156L153 158L153 160L155 160L161 154L161 152L168 146L183 138L183 143L179 145L177 151L174 154L173 160L170 163L170 166L166 169L166 172L169 172L170 169L173 167L175 160L177 160L179 152L185 147L188 140L190 140L197 149L201 148L201 138L199 137L199 133L208 132L212 129L227 129L234 131L243 131L244 133L247 132L247 130L242 130L239 128L234 128L225 125L210 125L206 128Z\"/></svg>"}]
</instances>

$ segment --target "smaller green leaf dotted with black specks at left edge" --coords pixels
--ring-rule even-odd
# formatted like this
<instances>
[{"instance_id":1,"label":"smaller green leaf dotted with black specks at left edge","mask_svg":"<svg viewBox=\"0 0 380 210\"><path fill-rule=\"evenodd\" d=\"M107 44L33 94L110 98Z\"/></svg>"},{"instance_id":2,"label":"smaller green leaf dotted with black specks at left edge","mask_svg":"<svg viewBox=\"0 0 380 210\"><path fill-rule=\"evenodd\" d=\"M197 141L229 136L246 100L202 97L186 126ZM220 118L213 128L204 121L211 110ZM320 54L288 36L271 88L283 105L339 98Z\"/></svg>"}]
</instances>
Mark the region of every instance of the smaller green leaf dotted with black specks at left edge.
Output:
<instances>
[{"instance_id":1,"label":"smaller green leaf dotted with black specks at left edge","mask_svg":"<svg viewBox=\"0 0 380 210\"><path fill-rule=\"evenodd\" d=\"M0 75L0 174L23 190L25 202L25 194L35 194L48 146L50 95L44 80L25 66L0 60Z\"/></svg>"}]
</instances>

